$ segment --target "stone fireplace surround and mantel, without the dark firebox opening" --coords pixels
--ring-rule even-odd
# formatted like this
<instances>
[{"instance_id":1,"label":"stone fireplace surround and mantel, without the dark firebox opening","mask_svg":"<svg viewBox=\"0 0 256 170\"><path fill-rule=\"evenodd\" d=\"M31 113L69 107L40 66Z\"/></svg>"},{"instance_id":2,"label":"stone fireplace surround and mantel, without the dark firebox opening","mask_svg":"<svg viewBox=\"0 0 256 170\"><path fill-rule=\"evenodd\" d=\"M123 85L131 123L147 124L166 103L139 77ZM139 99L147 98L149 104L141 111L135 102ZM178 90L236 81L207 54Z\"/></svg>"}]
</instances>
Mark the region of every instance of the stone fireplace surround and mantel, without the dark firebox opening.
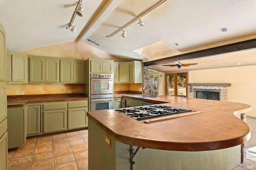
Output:
<instances>
[{"instance_id":1,"label":"stone fireplace surround and mantel, without the dark firebox opening","mask_svg":"<svg viewBox=\"0 0 256 170\"><path fill-rule=\"evenodd\" d=\"M228 100L228 87L231 86L230 83L187 83L188 86L188 97L194 98L195 90L220 90L220 101Z\"/></svg>"}]
</instances>

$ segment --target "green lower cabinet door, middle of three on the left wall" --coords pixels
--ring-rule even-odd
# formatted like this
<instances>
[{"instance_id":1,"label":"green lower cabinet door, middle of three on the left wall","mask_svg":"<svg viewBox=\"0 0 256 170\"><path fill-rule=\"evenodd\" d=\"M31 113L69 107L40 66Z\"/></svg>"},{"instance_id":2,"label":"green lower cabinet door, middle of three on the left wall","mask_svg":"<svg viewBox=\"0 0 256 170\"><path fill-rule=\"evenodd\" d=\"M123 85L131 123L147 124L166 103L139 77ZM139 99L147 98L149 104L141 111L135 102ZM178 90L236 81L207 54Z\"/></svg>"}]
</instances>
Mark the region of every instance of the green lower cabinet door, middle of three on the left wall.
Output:
<instances>
[{"instance_id":1,"label":"green lower cabinet door, middle of three on the left wall","mask_svg":"<svg viewBox=\"0 0 256 170\"><path fill-rule=\"evenodd\" d=\"M67 110L51 110L43 112L43 132L52 133L67 130Z\"/></svg>"}]
</instances>

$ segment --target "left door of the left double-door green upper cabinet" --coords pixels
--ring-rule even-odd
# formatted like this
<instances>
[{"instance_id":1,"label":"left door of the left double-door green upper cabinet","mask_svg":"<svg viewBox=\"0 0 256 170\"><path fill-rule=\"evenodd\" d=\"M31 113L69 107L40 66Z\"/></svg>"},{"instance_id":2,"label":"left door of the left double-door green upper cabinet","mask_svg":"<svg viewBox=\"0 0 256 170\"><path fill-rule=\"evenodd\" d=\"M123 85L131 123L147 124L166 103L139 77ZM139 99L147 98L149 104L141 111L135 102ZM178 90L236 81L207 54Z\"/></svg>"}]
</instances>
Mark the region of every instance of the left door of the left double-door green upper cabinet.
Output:
<instances>
[{"instance_id":1,"label":"left door of the left double-door green upper cabinet","mask_svg":"<svg viewBox=\"0 0 256 170\"><path fill-rule=\"evenodd\" d=\"M29 82L44 82L45 59L29 58Z\"/></svg>"}]
</instances>

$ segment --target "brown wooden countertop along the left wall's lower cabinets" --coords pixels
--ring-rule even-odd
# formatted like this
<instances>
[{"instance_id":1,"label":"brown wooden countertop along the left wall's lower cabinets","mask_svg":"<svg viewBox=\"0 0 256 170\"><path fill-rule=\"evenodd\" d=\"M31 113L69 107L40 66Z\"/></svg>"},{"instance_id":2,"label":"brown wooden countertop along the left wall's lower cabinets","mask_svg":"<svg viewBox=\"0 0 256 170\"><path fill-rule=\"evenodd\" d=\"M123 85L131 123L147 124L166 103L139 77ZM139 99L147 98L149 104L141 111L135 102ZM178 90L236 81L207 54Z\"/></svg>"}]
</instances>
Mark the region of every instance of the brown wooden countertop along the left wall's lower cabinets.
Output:
<instances>
[{"instance_id":1,"label":"brown wooden countertop along the left wall's lower cabinets","mask_svg":"<svg viewBox=\"0 0 256 170\"><path fill-rule=\"evenodd\" d=\"M7 107L24 107L31 103L63 102L74 100L88 100L87 94L42 94L7 96Z\"/></svg>"}]
</instances>

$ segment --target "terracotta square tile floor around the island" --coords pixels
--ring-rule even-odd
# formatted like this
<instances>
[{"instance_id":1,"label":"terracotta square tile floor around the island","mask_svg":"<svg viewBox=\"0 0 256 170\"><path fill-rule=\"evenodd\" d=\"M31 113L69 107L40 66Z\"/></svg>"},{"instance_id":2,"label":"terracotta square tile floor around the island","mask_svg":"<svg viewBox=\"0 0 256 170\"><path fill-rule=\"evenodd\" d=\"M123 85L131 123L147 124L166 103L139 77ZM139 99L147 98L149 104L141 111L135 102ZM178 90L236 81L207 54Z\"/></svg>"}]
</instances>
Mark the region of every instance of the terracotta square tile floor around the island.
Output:
<instances>
[{"instance_id":1,"label":"terracotta square tile floor around the island","mask_svg":"<svg viewBox=\"0 0 256 170\"><path fill-rule=\"evenodd\" d=\"M256 119L247 118L247 161L233 170L256 170ZM88 130L27 139L8 152L9 170L88 170Z\"/></svg>"}]
</instances>

